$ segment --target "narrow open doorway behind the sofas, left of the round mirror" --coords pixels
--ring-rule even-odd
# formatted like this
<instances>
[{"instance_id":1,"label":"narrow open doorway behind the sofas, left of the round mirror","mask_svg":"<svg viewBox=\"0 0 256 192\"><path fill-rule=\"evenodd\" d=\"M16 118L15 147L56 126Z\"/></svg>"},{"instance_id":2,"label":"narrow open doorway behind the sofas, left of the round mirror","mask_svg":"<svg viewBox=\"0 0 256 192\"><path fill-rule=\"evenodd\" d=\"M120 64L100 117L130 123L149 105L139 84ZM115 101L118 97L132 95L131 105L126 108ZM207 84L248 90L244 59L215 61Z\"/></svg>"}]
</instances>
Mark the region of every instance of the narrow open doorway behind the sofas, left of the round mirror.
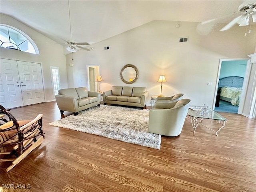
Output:
<instances>
[{"instance_id":1,"label":"narrow open doorway behind the sofas, left of the round mirror","mask_svg":"<svg viewBox=\"0 0 256 192\"><path fill-rule=\"evenodd\" d=\"M87 65L87 82L89 91L98 92L98 85L96 83L96 76L100 73L99 65Z\"/></svg>"}]
</instances>

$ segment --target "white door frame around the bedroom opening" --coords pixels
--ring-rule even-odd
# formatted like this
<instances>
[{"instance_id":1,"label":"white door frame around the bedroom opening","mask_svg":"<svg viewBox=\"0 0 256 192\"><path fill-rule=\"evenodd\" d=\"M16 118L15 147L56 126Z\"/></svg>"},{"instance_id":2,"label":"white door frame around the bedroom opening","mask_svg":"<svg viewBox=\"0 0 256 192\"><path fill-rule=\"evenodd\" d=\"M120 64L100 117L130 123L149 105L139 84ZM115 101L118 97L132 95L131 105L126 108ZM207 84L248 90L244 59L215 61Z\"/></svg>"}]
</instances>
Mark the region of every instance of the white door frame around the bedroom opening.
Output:
<instances>
[{"instance_id":1,"label":"white door frame around the bedroom opening","mask_svg":"<svg viewBox=\"0 0 256 192\"><path fill-rule=\"evenodd\" d=\"M218 75L217 75L217 79L216 79L216 87L215 87L215 93L214 93L214 102L213 102L213 106L212 109L215 109L215 104L216 104L216 97L217 97L217 93L218 93L218 84L219 84L219 79L220 79L220 69L221 69L221 64L222 61L236 61L236 60L247 60L247 64L246 64L246 72L244 74L244 82L243 82L243 87L242 87L242 94L240 97L240 103L238 106L238 114L242 114L242 110L244 108L244 101L245 101L245 94L247 92L247 82L248 82L248 77L249 77L249 73L248 70L250 68L250 58L227 58L227 59L220 59L219 61L219 67L218 67Z\"/></svg>"}]
</instances>

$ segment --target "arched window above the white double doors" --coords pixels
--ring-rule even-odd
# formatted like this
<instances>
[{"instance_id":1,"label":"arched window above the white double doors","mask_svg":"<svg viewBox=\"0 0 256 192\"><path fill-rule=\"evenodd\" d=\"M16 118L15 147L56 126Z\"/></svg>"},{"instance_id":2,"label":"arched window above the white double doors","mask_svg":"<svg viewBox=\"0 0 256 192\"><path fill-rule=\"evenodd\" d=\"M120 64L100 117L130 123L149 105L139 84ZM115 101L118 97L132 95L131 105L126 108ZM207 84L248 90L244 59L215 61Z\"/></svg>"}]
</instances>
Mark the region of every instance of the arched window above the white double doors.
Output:
<instances>
[{"instance_id":1,"label":"arched window above the white double doors","mask_svg":"<svg viewBox=\"0 0 256 192\"><path fill-rule=\"evenodd\" d=\"M0 24L1 47L16 49L28 53L39 54L34 41L21 30Z\"/></svg>"}]
</instances>

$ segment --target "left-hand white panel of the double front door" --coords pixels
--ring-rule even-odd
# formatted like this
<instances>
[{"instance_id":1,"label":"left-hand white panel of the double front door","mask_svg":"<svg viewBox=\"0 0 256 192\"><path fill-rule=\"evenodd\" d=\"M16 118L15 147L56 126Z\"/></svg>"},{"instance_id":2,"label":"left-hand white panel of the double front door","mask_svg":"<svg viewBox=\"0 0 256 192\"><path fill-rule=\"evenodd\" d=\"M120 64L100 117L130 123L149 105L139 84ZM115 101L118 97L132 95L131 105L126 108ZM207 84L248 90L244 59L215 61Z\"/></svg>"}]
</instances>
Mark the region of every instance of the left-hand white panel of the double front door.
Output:
<instances>
[{"instance_id":1,"label":"left-hand white panel of the double front door","mask_svg":"<svg viewBox=\"0 0 256 192\"><path fill-rule=\"evenodd\" d=\"M16 60L1 59L0 103L4 108L23 106Z\"/></svg>"}]
</instances>

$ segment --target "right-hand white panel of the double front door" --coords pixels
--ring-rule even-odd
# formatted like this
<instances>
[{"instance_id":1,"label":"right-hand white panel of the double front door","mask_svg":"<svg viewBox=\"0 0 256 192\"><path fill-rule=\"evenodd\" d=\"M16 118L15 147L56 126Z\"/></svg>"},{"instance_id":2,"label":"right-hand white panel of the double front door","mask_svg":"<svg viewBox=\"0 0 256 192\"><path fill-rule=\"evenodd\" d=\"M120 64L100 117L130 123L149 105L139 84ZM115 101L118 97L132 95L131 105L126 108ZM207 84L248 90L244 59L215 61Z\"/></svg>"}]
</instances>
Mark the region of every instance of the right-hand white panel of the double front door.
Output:
<instances>
[{"instance_id":1,"label":"right-hand white panel of the double front door","mask_svg":"<svg viewBox=\"0 0 256 192\"><path fill-rule=\"evenodd\" d=\"M17 61L23 104L45 102L41 64Z\"/></svg>"}]
</instances>

